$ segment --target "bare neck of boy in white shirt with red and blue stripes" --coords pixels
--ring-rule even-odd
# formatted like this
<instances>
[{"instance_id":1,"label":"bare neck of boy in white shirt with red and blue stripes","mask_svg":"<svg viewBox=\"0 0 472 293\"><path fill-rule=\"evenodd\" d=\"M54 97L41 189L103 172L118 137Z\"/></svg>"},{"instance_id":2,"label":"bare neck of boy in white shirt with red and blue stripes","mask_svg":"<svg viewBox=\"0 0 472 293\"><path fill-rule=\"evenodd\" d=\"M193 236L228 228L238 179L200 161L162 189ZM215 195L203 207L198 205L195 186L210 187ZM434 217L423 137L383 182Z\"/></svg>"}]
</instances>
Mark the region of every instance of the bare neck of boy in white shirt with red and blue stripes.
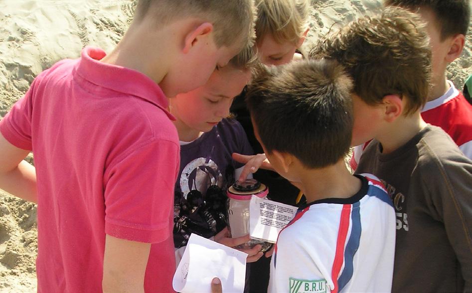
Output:
<instances>
[{"instance_id":1,"label":"bare neck of boy in white shirt with red and blue stripes","mask_svg":"<svg viewBox=\"0 0 472 293\"><path fill-rule=\"evenodd\" d=\"M348 198L361 188L361 181L351 175L343 159L322 169L305 168L302 174L301 190L308 202L324 198Z\"/></svg>"}]
</instances>

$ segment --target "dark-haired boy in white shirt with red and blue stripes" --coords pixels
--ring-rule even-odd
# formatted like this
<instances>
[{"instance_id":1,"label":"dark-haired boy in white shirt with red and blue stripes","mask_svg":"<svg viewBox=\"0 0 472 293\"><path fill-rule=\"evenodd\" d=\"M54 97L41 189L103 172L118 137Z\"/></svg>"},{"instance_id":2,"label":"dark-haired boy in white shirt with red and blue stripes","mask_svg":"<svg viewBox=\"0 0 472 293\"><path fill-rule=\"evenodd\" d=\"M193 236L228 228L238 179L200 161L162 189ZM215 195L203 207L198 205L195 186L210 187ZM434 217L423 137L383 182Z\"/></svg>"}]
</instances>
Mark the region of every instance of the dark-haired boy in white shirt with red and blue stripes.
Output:
<instances>
[{"instance_id":1,"label":"dark-haired boy in white shirt with red and blue stripes","mask_svg":"<svg viewBox=\"0 0 472 293\"><path fill-rule=\"evenodd\" d=\"M350 91L337 63L308 60L263 70L248 89L256 138L272 167L308 201L279 234L270 292L391 289L392 202L378 179L353 176L344 164Z\"/></svg>"}]
</instances>

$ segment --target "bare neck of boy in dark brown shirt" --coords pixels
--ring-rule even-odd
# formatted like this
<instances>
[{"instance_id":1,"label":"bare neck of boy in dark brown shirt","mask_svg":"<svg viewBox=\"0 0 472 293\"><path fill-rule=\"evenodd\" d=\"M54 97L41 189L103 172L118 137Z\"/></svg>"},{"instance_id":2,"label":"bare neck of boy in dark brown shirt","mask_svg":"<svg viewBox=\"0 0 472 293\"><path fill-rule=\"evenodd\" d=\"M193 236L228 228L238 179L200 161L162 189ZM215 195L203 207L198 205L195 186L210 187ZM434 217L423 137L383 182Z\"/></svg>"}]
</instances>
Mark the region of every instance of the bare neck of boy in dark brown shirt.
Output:
<instances>
[{"instance_id":1,"label":"bare neck of boy in dark brown shirt","mask_svg":"<svg viewBox=\"0 0 472 293\"><path fill-rule=\"evenodd\" d=\"M375 138L382 144L382 153L388 154L406 144L426 125L428 124L421 117L420 110L417 110L408 116L398 117Z\"/></svg>"}]
</instances>

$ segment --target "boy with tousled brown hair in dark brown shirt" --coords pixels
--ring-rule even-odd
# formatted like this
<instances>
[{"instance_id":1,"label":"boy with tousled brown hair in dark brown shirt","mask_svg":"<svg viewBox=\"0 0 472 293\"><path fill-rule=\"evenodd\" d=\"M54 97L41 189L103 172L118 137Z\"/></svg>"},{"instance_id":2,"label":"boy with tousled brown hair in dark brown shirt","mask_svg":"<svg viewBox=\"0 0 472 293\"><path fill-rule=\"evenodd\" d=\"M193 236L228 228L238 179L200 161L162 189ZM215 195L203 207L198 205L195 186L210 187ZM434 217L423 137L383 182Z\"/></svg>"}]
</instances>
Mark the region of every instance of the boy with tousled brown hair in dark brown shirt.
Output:
<instances>
[{"instance_id":1,"label":"boy with tousled brown hair in dark brown shirt","mask_svg":"<svg viewBox=\"0 0 472 293\"><path fill-rule=\"evenodd\" d=\"M418 14L391 7L318 43L354 80L352 143L374 138L356 173L384 182L394 201L394 292L472 290L472 162L426 124L431 52Z\"/></svg>"}]
</instances>

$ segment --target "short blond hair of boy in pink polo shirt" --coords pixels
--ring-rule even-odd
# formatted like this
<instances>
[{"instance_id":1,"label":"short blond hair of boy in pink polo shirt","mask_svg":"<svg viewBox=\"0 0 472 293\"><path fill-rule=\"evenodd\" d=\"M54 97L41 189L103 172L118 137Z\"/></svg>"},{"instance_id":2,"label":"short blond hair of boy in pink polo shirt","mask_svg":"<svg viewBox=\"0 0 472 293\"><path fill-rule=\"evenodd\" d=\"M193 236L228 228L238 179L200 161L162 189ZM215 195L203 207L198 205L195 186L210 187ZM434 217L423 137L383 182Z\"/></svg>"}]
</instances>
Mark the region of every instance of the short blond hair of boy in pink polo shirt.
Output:
<instances>
[{"instance_id":1,"label":"short blond hair of boy in pink polo shirt","mask_svg":"<svg viewBox=\"0 0 472 293\"><path fill-rule=\"evenodd\" d=\"M252 45L255 40L254 21L257 16L254 0L138 0L135 20L151 16L165 25L185 17L197 17L213 24L215 43L230 47L235 36Z\"/></svg>"}]
</instances>

